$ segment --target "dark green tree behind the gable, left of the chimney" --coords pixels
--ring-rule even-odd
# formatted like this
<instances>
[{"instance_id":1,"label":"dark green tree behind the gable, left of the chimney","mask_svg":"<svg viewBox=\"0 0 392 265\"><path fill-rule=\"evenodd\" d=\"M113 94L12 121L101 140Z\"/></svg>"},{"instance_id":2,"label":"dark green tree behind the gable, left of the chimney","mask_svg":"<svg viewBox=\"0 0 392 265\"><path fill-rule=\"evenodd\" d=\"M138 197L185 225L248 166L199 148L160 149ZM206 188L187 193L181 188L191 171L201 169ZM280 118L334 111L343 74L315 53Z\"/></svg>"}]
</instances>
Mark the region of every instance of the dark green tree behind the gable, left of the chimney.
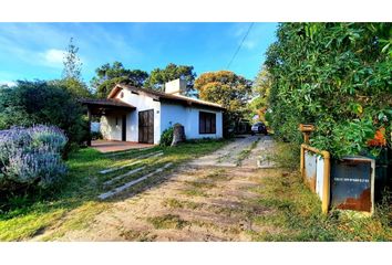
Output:
<instances>
[{"instance_id":1,"label":"dark green tree behind the gable, left of the chimney","mask_svg":"<svg viewBox=\"0 0 392 265\"><path fill-rule=\"evenodd\" d=\"M121 62L114 62L112 65L106 63L95 70L96 76L91 81L95 88L96 96L105 98L113 86L117 83L143 86L148 77L147 72L142 70L127 70Z\"/></svg>"}]
</instances>

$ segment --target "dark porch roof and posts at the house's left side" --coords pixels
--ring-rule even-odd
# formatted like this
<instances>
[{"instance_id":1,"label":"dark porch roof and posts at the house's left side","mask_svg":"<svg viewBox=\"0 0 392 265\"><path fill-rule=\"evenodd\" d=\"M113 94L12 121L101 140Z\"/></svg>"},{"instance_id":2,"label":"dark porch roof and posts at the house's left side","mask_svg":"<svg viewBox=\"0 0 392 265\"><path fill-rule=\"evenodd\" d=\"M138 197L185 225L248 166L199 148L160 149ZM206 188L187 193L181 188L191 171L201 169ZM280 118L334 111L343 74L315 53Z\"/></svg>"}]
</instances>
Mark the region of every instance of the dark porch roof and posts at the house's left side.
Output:
<instances>
[{"instance_id":1,"label":"dark porch roof and posts at the house's left side","mask_svg":"<svg viewBox=\"0 0 392 265\"><path fill-rule=\"evenodd\" d=\"M118 99L114 99L114 98L105 98L105 99L81 99L81 103L87 107L87 118L89 118L89 139L87 139L87 146L92 146L92 138L91 138L91 120L92 117L102 117L102 116L120 116L123 117L122 118L122 124L121 124L121 139L122 140L109 140L106 144L100 144L101 145L101 149L103 148L103 150L105 149L105 145L107 146L107 148L110 149L110 145L109 142L117 142L114 146L117 146L120 144L124 145L124 148L126 148L127 146L127 141L126 141L126 128L127 128L127 124L126 124L126 115L128 115L131 112L134 112L136 108L134 106L132 106L131 104L126 104L124 102L121 102ZM132 142L130 142L132 144ZM135 145L135 142L133 142ZM99 146L100 146L99 145ZM113 146L113 145L112 145ZM112 147L112 149L115 149L115 147ZM120 149L118 149L120 150ZM126 150L126 149L123 149Z\"/></svg>"}]
</instances>

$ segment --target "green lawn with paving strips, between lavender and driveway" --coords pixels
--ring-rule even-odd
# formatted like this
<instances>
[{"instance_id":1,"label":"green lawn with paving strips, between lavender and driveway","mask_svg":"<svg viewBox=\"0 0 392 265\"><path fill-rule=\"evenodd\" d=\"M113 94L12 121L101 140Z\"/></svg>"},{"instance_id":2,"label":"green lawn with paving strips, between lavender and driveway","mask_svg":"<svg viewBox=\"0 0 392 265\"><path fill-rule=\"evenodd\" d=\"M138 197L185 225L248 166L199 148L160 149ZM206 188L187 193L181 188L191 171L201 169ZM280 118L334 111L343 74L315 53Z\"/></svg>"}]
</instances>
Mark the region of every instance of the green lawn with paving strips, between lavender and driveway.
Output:
<instances>
[{"instance_id":1,"label":"green lawn with paving strips, between lavender and driveway","mask_svg":"<svg viewBox=\"0 0 392 265\"><path fill-rule=\"evenodd\" d=\"M18 197L6 202L7 208L2 209L7 210L0 212L0 241L25 241L40 235L49 227L54 229L55 233L42 240L53 240L66 231L85 227L89 221L112 203L110 200L97 200L97 195L107 190L104 189L103 183L130 170L125 168L110 174L100 174L99 171L102 169L133 162L135 157L143 153L164 151L164 156L143 159L141 163L135 165L134 167L146 166L146 168L136 176L114 182L112 184L114 188L167 162L174 163L173 169L182 162L212 152L225 144L227 141L200 140L173 148L155 147L145 151L132 150L116 157L107 157L91 148L81 149L70 157L66 162L69 174L51 191L51 194ZM131 188L127 192L141 192L158 181L157 174Z\"/></svg>"}]
</instances>

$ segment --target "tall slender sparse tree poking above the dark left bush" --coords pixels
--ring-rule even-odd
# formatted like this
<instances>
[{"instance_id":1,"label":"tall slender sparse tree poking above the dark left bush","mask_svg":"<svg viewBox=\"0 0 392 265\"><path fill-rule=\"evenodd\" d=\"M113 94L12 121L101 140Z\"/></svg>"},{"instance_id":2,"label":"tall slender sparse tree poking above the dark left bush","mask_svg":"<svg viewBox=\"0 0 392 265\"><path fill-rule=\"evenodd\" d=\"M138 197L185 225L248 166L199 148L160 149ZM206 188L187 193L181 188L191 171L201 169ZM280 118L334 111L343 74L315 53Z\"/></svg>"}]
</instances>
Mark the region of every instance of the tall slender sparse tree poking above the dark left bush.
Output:
<instances>
[{"instance_id":1,"label":"tall slender sparse tree poking above the dark left bush","mask_svg":"<svg viewBox=\"0 0 392 265\"><path fill-rule=\"evenodd\" d=\"M62 80L53 81L54 85L68 89L74 97L90 97L91 92L82 78L82 61L78 55L79 47L71 38L63 57Z\"/></svg>"}]
</instances>

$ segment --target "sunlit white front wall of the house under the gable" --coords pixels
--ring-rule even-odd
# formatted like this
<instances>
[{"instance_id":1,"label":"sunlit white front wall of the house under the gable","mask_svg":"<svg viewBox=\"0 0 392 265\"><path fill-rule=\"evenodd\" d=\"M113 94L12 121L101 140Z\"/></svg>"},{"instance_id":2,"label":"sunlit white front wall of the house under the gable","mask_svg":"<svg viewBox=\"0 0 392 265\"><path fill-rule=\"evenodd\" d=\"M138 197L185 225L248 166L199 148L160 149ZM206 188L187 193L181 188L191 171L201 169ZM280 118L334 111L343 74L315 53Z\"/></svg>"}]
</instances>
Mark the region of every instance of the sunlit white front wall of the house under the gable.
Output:
<instances>
[{"instance_id":1,"label":"sunlit white front wall of the house under the gable","mask_svg":"<svg viewBox=\"0 0 392 265\"><path fill-rule=\"evenodd\" d=\"M123 93L123 97L121 94ZM131 93L131 91L122 89L116 98L131 104L136 107L135 110L126 115L126 141L138 141L138 112L154 109L154 144L159 144L161 138L161 103L154 102L153 98L144 96L142 94L136 95ZM107 120L103 123L104 120ZM121 140L122 136L122 123L121 115L118 115L118 126L115 126L111 116L103 116L101 120L101 132L105 139L109 140ZM104 134L103 131L107 131Z\"/></svg>"}]
</instances>

